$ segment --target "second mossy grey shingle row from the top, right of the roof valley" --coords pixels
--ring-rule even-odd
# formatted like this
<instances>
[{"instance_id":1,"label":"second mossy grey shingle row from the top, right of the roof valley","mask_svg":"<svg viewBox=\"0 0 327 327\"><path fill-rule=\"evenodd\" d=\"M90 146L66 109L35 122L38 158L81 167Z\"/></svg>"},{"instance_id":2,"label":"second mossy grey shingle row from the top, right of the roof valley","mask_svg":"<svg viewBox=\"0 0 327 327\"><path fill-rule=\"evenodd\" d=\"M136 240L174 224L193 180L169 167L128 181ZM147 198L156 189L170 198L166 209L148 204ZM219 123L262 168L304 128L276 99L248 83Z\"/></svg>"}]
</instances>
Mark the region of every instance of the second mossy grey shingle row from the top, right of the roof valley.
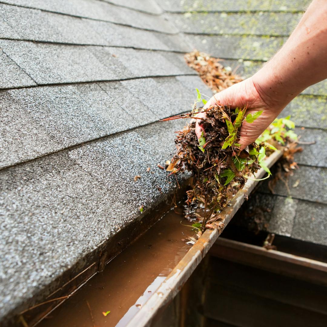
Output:
<instances>
[{"instance_id":1,"label":"second mossy grey shingle row from the top, right of the roof valley","mask_svg":"<svg viewBox=\"0 0 327 327\"><path fill-rule=\"evenodd\" d=\"M169 14L169 19L185 33L288 36L298 24L301 16L302 13L290 12L190 12Z\"/></svg>"}]
</instances>

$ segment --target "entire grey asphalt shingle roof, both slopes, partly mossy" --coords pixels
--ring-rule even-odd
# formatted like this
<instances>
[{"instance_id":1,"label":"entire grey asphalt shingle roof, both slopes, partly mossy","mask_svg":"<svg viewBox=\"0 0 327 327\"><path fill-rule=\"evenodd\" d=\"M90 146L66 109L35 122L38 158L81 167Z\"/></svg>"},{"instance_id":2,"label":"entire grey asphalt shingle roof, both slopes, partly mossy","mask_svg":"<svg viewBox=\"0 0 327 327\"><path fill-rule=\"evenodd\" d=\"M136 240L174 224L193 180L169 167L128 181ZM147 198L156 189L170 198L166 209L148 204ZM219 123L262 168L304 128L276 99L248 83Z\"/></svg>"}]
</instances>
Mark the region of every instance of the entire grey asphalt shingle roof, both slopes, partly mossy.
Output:
<instances>
[{"instance_id":1,"label":"entire grey asphalt shingle roof, both slopes, partly mossy","mask_svg":"<svg viewBox=\"0 0 327 327\"><path fill-rule=\"evenodd\" d=\"M303 11L303 1L279 3L1 2L0 317L48 294L58 276L176 188L157 163L169 158L183 121L158 121L188 110L195 87L210 94L183 53L196 47L250 76ZM325 105L321 82L283 115L292 115L301 140L324 145ZM285 232L320 244L327 244L324 151L305 146L297 158ZM260 192L279 203L278 227L283 186L274 196Z\"/></svg>"}]
</instances>

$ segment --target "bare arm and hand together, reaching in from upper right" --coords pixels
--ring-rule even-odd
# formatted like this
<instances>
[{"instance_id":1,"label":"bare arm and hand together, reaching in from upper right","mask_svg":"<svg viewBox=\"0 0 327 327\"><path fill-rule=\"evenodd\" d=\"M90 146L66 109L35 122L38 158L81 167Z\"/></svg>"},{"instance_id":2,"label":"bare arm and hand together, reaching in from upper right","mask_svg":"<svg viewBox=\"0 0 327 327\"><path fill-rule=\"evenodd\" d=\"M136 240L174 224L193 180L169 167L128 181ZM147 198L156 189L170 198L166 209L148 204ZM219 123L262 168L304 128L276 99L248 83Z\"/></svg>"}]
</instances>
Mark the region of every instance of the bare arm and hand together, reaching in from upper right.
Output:
<instances>
[{"instance_id":1,"label":"bare arm and hand together, reaching in from upper right","mask_svg":"<svg viewBox=\"0 0 327 327\"><path fill-rule=\"evenodd\" d=\"M327 1L314 0L287 42L252 77L214 95L204 106L247 106L247 113L263 110L240 130L242 148L254 142L285 106L308 86L327 78ZM205 117L199 113L198 117ZM202 133L197 119L195 132Z\"/></svg>"}]
</instances>

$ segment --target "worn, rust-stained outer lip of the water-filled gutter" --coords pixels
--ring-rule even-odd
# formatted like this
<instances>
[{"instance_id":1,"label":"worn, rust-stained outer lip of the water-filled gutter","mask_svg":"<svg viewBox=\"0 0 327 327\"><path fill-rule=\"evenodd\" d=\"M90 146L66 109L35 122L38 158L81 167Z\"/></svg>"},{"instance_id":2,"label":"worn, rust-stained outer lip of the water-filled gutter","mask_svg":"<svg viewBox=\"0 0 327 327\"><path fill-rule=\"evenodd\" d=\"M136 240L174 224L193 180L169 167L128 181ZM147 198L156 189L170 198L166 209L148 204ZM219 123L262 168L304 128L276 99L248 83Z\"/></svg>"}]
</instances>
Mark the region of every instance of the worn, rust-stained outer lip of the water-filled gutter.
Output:
<instances>
[{"instance_id":1,"label":"worn, rust-stained outer lip of the water-filled gutter","mask_svg":"<svg viewBox=\"0 0 327 327\"><path fill-rule=\"evenodd\" d=\"M267 158L267 166L271 167L281 157L283 152L278 150ZM256 179L261 179L266 174L264 169L256 173ZM223 226L220 229L206 230L192 248L185 254L181 261L175 266L166 279L160 284L156 292L145 302L140 311L129 321L126 327L150 326L152 319L156 316L160 308L169 303L180 291L183 284L191 276L195 268L199 265L206 253L215 243L224 227L230 222L237 210L250 195L258 181L248 180L243 189L239 190L222 212Z\"/></svg>"}]
</instances>

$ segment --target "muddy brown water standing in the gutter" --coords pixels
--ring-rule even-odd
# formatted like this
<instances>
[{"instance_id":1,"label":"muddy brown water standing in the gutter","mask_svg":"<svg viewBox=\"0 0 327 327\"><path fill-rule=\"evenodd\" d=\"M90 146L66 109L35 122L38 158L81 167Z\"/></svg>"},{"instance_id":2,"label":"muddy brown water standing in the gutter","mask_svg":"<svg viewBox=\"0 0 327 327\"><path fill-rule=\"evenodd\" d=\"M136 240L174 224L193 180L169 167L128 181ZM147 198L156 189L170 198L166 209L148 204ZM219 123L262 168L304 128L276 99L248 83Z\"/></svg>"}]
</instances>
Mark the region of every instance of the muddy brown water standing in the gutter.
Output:
<instances>
[{"instance_id":1,"label":"muddy brown water standing in the gutter","mask_svg":"<svg viewBox=\"0 0 327 327\"><path fill-rule=\"evenodd\" d=\"M194 232L181 220L190 225L167 213L37 327L125 326L191 248L182 233Z\"/></svg>"}]
</instances>

